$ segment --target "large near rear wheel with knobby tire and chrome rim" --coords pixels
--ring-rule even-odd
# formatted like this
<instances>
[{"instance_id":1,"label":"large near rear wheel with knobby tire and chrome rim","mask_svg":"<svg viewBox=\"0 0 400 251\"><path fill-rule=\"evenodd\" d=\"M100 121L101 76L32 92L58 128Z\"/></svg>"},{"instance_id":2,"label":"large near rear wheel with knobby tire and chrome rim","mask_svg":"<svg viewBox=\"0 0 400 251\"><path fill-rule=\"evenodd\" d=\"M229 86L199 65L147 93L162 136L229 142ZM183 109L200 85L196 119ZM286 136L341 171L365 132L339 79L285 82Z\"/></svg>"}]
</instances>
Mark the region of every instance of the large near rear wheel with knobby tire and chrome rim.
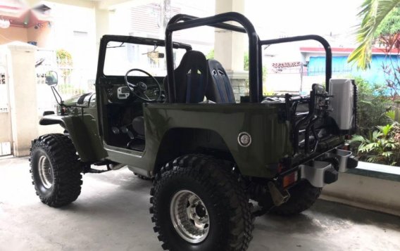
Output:
<instances>
[{"instance_id":1,"label":"large near rear wheel with knobby tire and chrome rim","mask_svg":"<svg viewBox=\"0 0 400 251\"><path fill-rule=\"evenodd\" d=\"M151 189L151 218L164 250L246 250L253 218L246 193L223 162L187 155L168 163Z\"/></svg>"}]
</instances>

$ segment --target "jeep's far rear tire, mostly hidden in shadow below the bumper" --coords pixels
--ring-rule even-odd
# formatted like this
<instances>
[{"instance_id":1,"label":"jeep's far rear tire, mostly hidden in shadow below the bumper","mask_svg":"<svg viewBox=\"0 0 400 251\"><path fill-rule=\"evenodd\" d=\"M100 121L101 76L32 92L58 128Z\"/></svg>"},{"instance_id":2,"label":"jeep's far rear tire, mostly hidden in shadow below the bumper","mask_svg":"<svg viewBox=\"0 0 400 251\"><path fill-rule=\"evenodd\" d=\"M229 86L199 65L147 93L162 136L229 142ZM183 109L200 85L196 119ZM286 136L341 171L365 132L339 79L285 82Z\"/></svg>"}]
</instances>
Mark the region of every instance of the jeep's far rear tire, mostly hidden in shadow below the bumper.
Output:
<instances>
[{"instance_id":1,"label":"jeep's far rear tire, mostly hidden in shadow below the bumper","mask_svg":"<svg viewBox=\"0 0 400 251\"><path fill-rule=\"evenodd\" d=\"M312 186L306 180L301 181L296 186L289 188L289 200L279 207L273 207L270 212L283 216L299 214L314 204L322 190L322 188Z\"/></svg>"}]
</instances>

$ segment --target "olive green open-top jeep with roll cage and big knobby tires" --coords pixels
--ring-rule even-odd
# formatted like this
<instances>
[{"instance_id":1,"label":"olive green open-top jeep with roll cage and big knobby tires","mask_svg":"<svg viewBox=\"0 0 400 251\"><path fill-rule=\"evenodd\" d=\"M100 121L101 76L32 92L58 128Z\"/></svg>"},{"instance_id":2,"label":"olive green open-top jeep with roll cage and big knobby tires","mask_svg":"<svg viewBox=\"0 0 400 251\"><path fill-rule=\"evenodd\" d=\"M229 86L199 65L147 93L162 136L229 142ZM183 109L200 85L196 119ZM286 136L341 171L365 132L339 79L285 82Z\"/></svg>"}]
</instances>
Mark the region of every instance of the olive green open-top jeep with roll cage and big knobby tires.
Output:
<instances>
[{"instance_id":1,"label":"olive green open-top jeep with roll cage and big knobby tires","mask_svg":"<svg viewBox=\"0 0 400 251\"><path fill-rule=\"evenodd\" d=\"M249 96L237 101L223 65L172 40L203 25L248 35ZM325 86L263 96L263 46L308 39L325 48ZM153 180L151 221L165 250L246 250L254 217L308 209L338 172L358 164L344 144L356 129L356 84L331 72L322 37L261 40L239 13L175 15L165 41L106 35L95 93L62 101L56 74L46 77L59 105L40 124L65 132L32 141L37 195L61 207L80 195L82 173L127 166Z\"/></svg>"}]
</instances>

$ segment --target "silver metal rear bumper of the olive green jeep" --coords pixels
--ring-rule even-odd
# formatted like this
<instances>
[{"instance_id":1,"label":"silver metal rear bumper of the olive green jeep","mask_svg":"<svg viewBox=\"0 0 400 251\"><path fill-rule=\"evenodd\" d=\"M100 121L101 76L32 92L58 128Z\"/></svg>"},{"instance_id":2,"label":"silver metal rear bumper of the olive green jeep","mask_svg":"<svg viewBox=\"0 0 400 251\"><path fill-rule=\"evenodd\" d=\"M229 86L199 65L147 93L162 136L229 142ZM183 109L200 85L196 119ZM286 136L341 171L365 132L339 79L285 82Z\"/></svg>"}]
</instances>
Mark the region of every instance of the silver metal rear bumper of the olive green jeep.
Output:
<instances>
[{"instance_id":1,"label":"silver metal rear bumper of the olive green jeep","mask_svg":"<svg viewBox=\"0 0 400 251\"><path fill-rule=\"evenodd\" d=\"M357 165L358 160L353 153L339 146L315 160L299 165L299 174L301 179L306 179L311 185L322 188L337 181L339 172L346 172L348 169L356 168Z\"/></svg>"}]
</instances>

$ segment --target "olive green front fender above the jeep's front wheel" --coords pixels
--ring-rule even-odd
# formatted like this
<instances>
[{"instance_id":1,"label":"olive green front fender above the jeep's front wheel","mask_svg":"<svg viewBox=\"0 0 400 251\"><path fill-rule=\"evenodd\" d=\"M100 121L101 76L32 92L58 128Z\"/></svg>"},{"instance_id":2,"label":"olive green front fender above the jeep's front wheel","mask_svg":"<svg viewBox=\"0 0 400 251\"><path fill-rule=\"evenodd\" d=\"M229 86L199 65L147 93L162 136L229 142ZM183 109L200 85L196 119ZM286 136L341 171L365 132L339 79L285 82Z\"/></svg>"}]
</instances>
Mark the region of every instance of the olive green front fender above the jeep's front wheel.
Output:
<instances>
[{"instance_id":1,"label":"olive green front fender above the jeep's front wheel","mask_svg":"<svg viewBox=\"0 0 400 251\"><path fill-rule=\"evenodd\" d=\"M99 137L96 120L91 115L46 115L39 124L60 124L67 130L83 162L96 162L108 156Z\"/></svg>"}]
</instances>

